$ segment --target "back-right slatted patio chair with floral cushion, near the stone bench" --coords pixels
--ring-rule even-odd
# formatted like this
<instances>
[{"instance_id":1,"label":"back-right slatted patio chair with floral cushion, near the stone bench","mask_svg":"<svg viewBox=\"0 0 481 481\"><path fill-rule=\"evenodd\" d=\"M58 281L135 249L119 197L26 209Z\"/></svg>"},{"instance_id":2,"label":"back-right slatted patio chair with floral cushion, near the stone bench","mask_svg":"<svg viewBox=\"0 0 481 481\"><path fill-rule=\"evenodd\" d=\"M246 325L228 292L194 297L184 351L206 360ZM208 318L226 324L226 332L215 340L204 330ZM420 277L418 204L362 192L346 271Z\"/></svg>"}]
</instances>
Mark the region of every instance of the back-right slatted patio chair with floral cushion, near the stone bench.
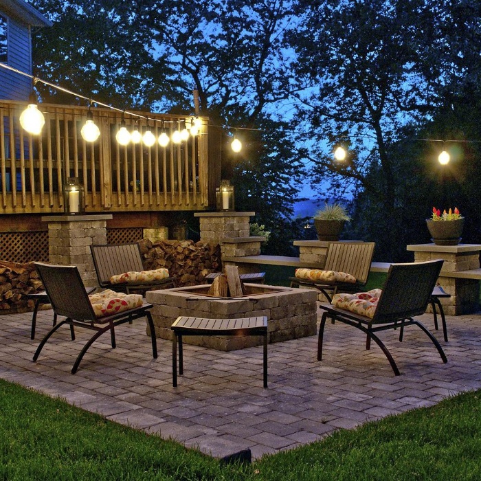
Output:
<instances>
[{"instance_id":1,"label":"back-right slatted patio chair with floral cushion, near the stone bench","mask_svg":"<svg viewBox=\"0 0 481 481\"><path fill-rule=\"evenodd\" d=\"M373 242L330 242L324 268L296 269L296 277L289 278L291 287L315 287L329 302L337 292L358 292L368 282L374 247ZM300 273L308 277L300 278Z\"/></svg>"}]
</instances>

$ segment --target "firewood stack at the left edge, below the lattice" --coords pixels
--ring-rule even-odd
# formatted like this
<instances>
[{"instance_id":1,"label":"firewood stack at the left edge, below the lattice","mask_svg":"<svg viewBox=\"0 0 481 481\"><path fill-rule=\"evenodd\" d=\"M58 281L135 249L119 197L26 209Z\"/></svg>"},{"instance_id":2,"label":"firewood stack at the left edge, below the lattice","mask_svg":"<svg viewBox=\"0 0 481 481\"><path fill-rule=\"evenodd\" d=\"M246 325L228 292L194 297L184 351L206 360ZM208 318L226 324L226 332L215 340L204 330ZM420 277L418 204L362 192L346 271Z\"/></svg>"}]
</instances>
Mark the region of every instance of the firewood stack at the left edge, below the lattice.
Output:
<instances>
[{"instance_id":1,"label":"firewood stack at the left edge, below the lattice","mask_svg":"<svg viewBox=\"0 0 481 481\"><path fill-rule=\"evenodd\" d=\"M33 262L19 264L0 260L0 314L32 311L27 294L43 291Z\"/></svg>"}]
</instances>

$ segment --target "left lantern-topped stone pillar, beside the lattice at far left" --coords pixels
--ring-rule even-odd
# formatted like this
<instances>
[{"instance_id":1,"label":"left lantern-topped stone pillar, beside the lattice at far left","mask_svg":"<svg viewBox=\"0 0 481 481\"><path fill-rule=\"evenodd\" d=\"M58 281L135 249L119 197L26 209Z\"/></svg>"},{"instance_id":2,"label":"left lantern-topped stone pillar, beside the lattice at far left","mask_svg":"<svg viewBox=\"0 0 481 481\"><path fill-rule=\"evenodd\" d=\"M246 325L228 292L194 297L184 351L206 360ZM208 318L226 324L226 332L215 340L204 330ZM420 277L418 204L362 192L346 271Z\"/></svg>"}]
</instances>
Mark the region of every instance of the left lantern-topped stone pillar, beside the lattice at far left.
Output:
<instances>
[{"instance_id":1,"label":"left lantern-topped stone pillar, beside the lattice at far left","mask_svg":"<svg viewBox=\"0 0 481 481\"><path fill-rule=\"evenodd\" d=\"M98 287L90 246L107 244L107 221L111 219L111 214L42 217L48 223L49 261L76 265L85 287Z\"/></svg>"}]
</instances>

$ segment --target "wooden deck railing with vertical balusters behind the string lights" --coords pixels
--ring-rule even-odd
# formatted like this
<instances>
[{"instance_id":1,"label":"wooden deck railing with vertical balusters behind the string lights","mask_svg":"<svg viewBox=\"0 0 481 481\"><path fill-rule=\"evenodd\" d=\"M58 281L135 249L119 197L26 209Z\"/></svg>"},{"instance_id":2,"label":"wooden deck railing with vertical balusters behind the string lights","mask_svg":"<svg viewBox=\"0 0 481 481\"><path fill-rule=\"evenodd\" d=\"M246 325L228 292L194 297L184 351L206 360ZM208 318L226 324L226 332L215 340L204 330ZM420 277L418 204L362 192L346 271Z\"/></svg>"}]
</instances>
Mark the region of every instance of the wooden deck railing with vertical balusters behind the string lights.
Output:
<instances>
[{"instance_id":1,"label":"wooden deck railing with vertical balusters behind the string lights","mask_svg":"<svg viewBox=\"0 0 481 481\"><path fill-rule=\"evenodd\" d=\"M115 133L122 113L92 109L100 128L96 142L85 142L80 129L86 107L40 104L45 115L41 135L21 128L25 102L0 100L0 214L63 212L63 185L79 177L86 212L204 210L208 208L208 119L199 135L164 148L157 142L120 146ZM185 115L148 115L150 130L168 133ZM145 129L147 120L125 116L127 128Z\"/></svg>"}]
</instances>

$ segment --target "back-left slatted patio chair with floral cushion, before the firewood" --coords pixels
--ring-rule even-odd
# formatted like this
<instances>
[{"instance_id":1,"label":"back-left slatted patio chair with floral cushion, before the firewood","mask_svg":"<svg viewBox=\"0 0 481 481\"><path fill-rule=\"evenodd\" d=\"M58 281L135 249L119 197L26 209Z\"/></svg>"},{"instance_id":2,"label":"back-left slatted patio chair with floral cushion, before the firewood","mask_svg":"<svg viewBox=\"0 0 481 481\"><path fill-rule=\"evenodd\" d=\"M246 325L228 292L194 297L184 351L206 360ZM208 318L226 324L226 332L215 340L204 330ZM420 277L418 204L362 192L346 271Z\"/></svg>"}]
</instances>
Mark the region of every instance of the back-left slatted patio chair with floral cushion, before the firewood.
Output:
<instances>
[{"instance_id":1,"label":"back-left slatted patio chair with floral cushion, before the firewood","mask_svg":"<svg viewBox=\"0 0 481 481\"><path fill-rule=\"evenodd\" d=\"M137 243L91 245L90 250L93 264L96 267L98 283L104 289L127 294L141 292L142 295L145 295L146 291L151 289L174 287L174 278L168 276L166 269L164 270L167 277L164 278L149 275L161 269L144 271L142 255ZM122 276L123 274L129 274L131 279L129 276ZM142 280L136 280L132 274L142 274ZM113 282L114 278L116 282ZM148 278L150 280L146 280Z\"/></svg>"}]
</instances>

